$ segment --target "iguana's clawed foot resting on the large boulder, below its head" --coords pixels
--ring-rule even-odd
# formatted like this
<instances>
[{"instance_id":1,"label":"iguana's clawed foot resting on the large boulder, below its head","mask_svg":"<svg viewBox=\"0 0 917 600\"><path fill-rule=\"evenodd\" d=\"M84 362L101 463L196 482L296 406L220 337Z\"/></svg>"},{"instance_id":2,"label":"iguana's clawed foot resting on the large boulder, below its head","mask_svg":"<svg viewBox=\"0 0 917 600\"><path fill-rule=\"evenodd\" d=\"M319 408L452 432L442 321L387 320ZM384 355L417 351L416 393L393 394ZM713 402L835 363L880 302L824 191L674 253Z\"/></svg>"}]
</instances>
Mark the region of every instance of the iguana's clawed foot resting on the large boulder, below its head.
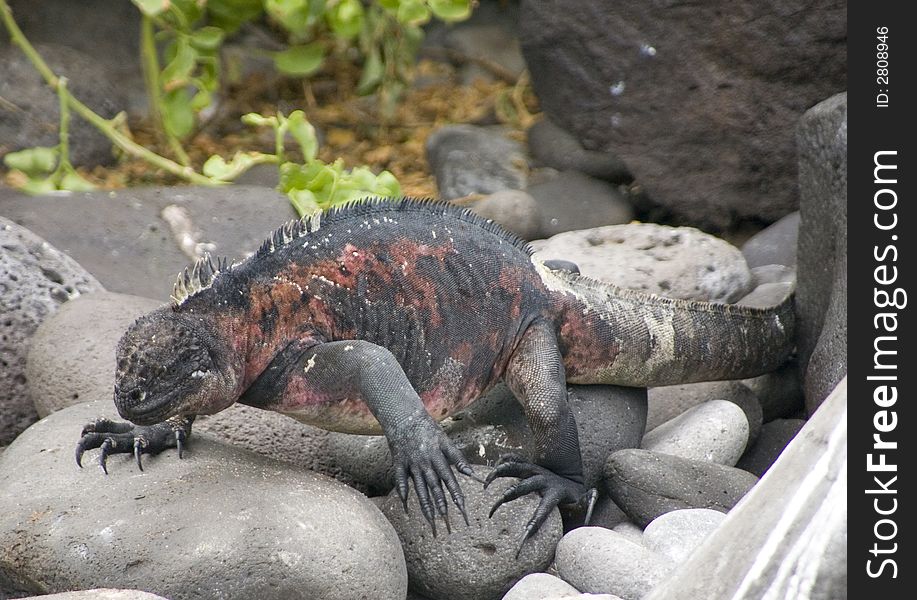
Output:
<instances>
[{"instance_id":1,"label":"iguana's clawed foot resting on the large boulder, below its head","mask_svg":"<svg viewBox=\"0 0 917 600\"><path fill-rule=\"evenodd\" d=\"M76 445L76 464L83 466L83 453L101 448L99 466L108 474L106 461L111 454L133 453L137 467L142 471L143 454L158 454L166 448L177 448L182 457L185 440L191 433L191 417L173 417L155 425L141 426L133 423L100 418L86 424Z\"/></svg>"}]
</instances>

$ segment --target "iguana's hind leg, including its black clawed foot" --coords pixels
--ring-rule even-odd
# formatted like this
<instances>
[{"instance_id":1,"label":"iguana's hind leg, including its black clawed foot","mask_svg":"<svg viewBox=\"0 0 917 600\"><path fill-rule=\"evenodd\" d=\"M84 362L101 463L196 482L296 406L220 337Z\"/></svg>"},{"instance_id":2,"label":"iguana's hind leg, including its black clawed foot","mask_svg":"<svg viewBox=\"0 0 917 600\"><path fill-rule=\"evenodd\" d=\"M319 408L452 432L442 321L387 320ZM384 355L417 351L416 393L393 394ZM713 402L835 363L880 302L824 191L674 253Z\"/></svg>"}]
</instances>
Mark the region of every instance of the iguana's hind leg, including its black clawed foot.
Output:
<instances>
[{"instance_id":1,"label":"iguana's hind leg, including its black clawed foot","mask_svg":"<svg viewBox=\"0 0 917 600\"><path fill-rule=\"evenodd\" d=\"M531 492L541 493L541 503L523 532L521 545L541 527L559 504L595 501L595 492L583 485L576 421L567 405L567 383L563 360L553 327L544 321L532 324L523 334L507 365L507 386L522 404L535 438L533 462L509 455L501 458L487 476L489 484L498 477L522 477L509 487L491 509Z\"/></svg>"}]
</instances>

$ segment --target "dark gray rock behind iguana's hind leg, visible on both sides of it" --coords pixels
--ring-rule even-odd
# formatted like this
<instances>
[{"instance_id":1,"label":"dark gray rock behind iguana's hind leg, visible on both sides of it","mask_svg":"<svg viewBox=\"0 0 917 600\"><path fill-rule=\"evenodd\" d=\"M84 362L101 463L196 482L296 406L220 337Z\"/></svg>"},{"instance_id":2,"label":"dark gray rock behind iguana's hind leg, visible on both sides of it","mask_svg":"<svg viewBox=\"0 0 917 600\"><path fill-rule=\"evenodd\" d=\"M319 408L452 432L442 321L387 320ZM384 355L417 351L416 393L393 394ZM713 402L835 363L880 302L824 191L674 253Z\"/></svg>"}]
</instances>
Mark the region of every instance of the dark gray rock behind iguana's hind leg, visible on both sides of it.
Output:
<instances>
[{"instance_id":1,"label":"dark gray rock behind iguana's hind leg, visible on both sides of it","mask_svg":"<svg viewBox=\"0 0 917 600\"><path fill-rule=\"evenodd\" d=\"M646 422L646 391L611 385L569 385L586 485L602 476L605 459L640 444ZM531 456L532 432L519 403L500 386L482 402L452 418L446 431L468 460L493 464L501 454Z\"/></svg>"}]
</instances>

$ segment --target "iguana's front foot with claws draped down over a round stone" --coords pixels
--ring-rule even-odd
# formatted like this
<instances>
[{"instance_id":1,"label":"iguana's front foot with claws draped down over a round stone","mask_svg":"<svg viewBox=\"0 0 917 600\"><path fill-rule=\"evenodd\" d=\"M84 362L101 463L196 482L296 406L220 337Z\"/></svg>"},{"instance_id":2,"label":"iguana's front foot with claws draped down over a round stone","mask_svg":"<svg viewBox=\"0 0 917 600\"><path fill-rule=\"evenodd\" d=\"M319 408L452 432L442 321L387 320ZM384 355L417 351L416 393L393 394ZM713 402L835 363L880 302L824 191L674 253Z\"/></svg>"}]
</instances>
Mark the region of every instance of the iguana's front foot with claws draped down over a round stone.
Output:
<instances>
[{"instance_id":1,"label":"iguana's front foot with claws draped down over a round stone","mask_svg":"<svg viewBox=\"0 0 917 600\"><path fill-rule=\"evenodd\" d=\"M452 472L452 466L464 475L483 482L478 477L462 451L450 440L443 430L432 419L420 418L404 427L397 439L389 442L392 461L395 466L395 489L398 497L408 510L408 480L414 482L414 491L420 501L420 510L433 528L436 536L436 514L449 524L448 504L443 485L449 490L452 501L462 513L465 525L468 525L468 513L465 511L465 495ZM434 512L435 510L435 512Z\"/></svg>"}]
</instances>

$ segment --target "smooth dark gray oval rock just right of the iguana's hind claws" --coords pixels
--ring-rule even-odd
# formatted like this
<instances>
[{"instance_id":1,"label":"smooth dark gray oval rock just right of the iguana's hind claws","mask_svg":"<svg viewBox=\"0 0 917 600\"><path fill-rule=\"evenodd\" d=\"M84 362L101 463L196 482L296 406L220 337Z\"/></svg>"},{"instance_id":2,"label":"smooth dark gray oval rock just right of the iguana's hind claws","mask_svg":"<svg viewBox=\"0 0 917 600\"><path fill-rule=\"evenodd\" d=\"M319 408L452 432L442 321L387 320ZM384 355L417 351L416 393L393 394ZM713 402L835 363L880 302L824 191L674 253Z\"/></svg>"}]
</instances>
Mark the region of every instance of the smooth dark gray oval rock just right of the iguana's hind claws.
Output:
<instances>
[{"instance_id":1,"label":"smooth dark gray oval rock just right of the iguana's hind claws","mask_svg":"<svg viewBox=\"0 0 917 600\"><path fill-rule=\"evenodd\" d=\"M649 450L620 450L605 463L611 498L641 527L682 508L727 512L757 481L741 469Z\"/></svg>"}]
</instances>

